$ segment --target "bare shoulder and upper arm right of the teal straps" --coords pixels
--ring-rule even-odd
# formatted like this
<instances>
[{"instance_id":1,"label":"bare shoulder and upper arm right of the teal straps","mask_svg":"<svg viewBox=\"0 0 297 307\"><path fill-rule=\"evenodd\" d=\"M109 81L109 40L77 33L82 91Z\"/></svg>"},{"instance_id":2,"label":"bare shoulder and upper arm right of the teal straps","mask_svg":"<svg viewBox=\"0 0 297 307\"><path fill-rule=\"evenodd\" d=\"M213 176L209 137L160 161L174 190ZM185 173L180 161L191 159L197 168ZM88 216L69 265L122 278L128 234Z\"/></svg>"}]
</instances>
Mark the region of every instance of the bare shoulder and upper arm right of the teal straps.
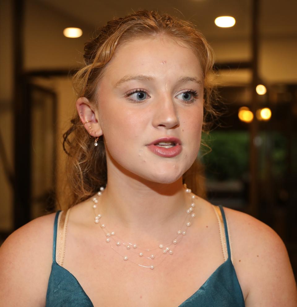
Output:
<instances>
[{"instance_id":1,"label":"bare shoulder and upper arm right of the teal straps","mask_svg":"<svg viewBox=\"0 0 297 307\"><path fill-rule=\"evenodd\" d=\"M268 225L240 211L224 208L233 263L248 289L246 306L297 306L297 290L286 246Z\"/></svg>"}]
</instances>

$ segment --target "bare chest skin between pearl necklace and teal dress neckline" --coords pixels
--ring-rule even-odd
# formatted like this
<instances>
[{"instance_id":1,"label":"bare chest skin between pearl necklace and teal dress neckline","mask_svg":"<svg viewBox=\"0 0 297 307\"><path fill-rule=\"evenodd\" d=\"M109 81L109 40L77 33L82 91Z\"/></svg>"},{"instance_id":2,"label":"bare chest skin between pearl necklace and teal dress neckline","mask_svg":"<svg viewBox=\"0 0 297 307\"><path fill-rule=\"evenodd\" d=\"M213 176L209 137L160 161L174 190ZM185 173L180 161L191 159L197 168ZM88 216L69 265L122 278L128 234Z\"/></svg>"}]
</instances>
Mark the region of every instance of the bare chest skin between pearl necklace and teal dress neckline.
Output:
<instances>
[{"instance_id":1,"label":"bare chest skin between pearl necklace and teal dress neckline","mask_svg":"<svg viewBox=\"0 0 297 307\"><path fill-rule=\"evenodd\" d=\"M208 236L212 240L184 240L173 255L156 257L153 270L124 261L108 244L69 236L63 267L95 307L179 306L224 262L217 233L209 230Z\"/></svg>"}]
</instances>

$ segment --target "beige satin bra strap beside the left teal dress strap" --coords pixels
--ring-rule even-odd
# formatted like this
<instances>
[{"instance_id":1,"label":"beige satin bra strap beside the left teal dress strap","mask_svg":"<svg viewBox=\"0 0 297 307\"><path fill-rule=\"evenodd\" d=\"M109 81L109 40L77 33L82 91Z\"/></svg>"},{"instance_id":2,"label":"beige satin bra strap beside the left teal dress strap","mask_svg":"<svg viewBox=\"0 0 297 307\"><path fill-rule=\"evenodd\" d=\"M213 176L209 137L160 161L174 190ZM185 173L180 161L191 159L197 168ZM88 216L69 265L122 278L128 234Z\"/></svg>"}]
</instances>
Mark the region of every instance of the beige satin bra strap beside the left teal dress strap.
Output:
<instances>
[{"instance_id":1,"label":"beige satin bra strap beside the left teal dress strap","mask_svg":"<svg viewBox=\"0 0 297 307\"><path fill-rule=\"evenodd\" d=\"M64 263L69 213L70 213L70 208L67 211L61 211L58 216L56 262L60 266L63 266Z\"/></svg>"}]
</instances>

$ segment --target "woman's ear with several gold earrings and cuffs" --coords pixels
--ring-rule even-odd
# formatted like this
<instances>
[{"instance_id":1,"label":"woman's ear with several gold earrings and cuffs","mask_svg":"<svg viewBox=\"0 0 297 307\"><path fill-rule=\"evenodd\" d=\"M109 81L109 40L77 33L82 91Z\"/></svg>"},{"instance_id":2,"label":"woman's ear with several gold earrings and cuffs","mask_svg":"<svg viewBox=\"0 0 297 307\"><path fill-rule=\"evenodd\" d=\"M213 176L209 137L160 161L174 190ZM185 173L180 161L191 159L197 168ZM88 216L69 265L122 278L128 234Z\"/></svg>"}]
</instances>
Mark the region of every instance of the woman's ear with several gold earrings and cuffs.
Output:
<instances>
[{"instance_id":1,"label":"woman's ear with several gold earrings and cuffs","mask_svg":"<svg viewBox=\"0 0 297 307\"><path fill-rule=\"evenodd\" d=\"M89 100L85 97L80 97L76 101L76 110L80 116L80 121L90 136L101 136L102 129L95 112Z\"/></svg>"}]
</instances>

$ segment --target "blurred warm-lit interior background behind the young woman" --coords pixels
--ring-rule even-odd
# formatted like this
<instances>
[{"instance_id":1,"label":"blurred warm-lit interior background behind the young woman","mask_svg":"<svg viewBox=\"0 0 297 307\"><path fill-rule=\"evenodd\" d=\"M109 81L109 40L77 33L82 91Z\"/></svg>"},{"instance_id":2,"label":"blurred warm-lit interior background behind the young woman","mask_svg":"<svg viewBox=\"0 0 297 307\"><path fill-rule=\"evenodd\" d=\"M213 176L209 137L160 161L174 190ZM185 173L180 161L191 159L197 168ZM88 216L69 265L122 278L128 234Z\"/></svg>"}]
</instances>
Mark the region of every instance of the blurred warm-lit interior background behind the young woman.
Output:
<instances>
[{"instance_id":1,"label":"blurred warm-lit interior background behind the young woman","mask_svg":"<svg viewBox=\"0 0 297 307\"><path fill-rule=\"evenodd\" d=\"M62 133L75 112L71 76L95 29L138 9L192 21L213 47L225 110L204 136L212 152L201 150L200 193L272 227L296 276L295 0L1 0L0 241L67 201ZM219 16L236 22L219 27ZM82 35L66 37L69 27Z\"/></svg>"}]
</instances>

